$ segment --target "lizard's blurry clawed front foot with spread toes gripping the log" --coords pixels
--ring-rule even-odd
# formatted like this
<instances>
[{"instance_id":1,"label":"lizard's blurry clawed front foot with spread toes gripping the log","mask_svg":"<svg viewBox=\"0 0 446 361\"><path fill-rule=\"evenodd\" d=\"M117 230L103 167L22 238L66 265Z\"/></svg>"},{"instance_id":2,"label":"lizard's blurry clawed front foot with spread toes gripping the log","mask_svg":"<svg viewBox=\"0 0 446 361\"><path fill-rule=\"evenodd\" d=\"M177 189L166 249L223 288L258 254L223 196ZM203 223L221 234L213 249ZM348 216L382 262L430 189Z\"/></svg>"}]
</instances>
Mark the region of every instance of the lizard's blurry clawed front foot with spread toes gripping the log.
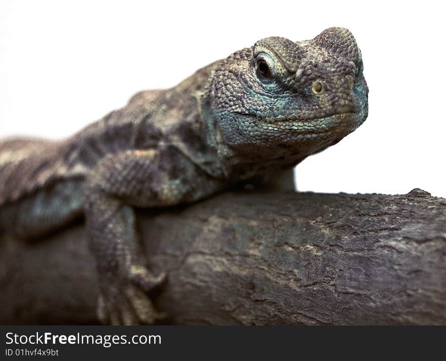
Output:
<instances>
[{"instance_id":1,"label":"lizard's blurry clawed front foot with spread toes gripping the log","mask_svg":"<svg viewBox=\"0 0 446 361\"><path fill-rule=\"evenodd\" d=\"M108 279L98 298L99 321L103 324L153 324L157 319L166 318L167 314L158 312L147 295L165 280L165 273L154 277L142 266L132 266L125 283Z\"/></svg>"}]
</instances>

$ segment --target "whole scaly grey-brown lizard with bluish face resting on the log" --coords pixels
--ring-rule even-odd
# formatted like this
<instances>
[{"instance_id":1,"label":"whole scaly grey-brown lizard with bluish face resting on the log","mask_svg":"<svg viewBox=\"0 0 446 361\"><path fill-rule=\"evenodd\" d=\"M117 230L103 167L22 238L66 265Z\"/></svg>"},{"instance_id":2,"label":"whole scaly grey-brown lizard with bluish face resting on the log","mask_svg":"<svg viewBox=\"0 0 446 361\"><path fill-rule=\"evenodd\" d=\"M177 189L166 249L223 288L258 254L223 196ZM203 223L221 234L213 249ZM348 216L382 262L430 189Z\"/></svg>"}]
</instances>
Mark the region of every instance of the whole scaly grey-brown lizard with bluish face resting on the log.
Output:
<instances>
[{"instance_id":1,"label":"whole scaly grey-brown lizard with bluish face resting on the log","mask_svg":"<svg viewBox=\"0 0 446 361\"><path fill-rule=\"evenodd\" d=\"M148 294L167 276L146 265L136 208L246 184L293 189L293 167L367 115L362 55L349 30L265 38L173 88L137 93L63 140L0 142L0 227L32 239L84 215L99 321L152 324L162 312Z\"/></svg>"}]
</instances>

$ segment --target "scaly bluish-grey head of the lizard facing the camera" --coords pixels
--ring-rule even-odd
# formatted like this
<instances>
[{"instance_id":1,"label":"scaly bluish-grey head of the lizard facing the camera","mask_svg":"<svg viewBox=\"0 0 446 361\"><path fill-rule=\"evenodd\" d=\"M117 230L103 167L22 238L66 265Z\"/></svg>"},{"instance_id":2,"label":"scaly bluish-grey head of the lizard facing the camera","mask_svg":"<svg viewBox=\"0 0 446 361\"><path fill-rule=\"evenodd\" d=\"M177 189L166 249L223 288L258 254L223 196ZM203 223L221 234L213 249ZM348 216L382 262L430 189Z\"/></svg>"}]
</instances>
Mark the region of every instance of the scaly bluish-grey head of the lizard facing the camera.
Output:
<instances>
[{"instance_id":1,"label":"scaly bluish-grey head of the lizard facing the camera","mask_svg":"<svg viewBox=\"0 0 446 361\"><path fill-rule=\"evenodd\" d=\"M235 52L215 68L210 101L231 152L303 159L364 122L367 94L353 35L333 27L313 40L272 37Z\"/></svg>"}]
</instances>

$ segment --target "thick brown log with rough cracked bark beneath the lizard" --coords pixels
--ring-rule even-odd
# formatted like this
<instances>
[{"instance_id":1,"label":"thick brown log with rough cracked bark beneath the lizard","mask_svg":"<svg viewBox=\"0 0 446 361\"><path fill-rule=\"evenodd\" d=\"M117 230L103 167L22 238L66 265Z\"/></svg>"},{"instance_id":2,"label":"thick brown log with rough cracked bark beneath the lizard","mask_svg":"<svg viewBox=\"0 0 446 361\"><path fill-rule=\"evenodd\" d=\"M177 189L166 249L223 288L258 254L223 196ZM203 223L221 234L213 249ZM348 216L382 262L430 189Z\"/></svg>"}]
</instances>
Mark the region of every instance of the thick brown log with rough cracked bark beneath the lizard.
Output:
<instances>
[{"instance_id":1,"label":"thick brown log with rough cracked bark beneath the lizard","mask_svg":"<svg viewBox=\"0 0 446 361\"><path fill-rule=\"evenodd\" d=\"M153 293L177 324L446 324L446 200L227 193L140 211ZM95 323L82 224L0 241L0 323Z\"/></svg>"}]
</instances>

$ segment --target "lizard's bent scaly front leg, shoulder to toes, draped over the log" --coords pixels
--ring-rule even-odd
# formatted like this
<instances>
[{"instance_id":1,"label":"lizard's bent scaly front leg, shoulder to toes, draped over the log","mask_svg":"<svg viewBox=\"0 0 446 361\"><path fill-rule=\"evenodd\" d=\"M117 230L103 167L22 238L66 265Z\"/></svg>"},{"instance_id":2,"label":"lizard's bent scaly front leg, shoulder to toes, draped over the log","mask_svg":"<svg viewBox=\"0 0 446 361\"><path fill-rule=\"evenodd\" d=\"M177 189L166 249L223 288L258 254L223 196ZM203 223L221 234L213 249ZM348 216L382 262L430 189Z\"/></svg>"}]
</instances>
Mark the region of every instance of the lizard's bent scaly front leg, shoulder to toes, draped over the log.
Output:
<instances>
[{"instance_id":1,"label":"lizard's bent scaly front leg, shoulder to toes, draped over the log","mask_svg":"<svg viewBox=\"0 0 446 361\"><path fill-rule=\"evenodd\" d=\"M132 206L194 201L206 195L206 187L199 187L196 167L172 149L112 154L92 169L85 187L85 215L99 273L101 322L154 323L159 314L147 292L165 276L145 267Z\"/></svg>"}]
</instances>

